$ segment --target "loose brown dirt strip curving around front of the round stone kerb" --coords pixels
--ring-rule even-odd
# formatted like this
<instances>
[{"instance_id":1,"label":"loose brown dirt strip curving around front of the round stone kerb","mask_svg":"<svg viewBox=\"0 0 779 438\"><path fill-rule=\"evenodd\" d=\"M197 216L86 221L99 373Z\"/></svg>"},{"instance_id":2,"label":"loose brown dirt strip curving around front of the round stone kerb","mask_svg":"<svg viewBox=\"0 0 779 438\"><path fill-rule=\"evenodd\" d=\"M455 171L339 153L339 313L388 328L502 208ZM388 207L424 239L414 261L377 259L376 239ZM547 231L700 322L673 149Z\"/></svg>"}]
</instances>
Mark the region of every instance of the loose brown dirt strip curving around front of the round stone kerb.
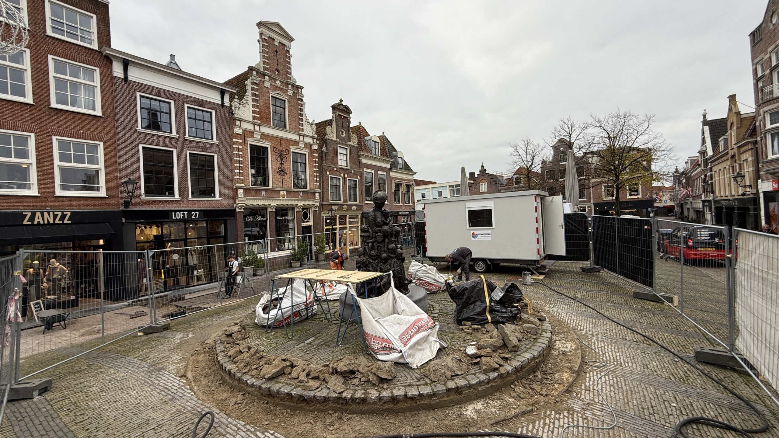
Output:
<instances>
[{"instance_id":1,"label":"loose brown dirt strip curving around front of the round stone kerb","mask_svg":"<svg viewBox=\"0 0 779 438\"><path fill-rule=\"evenodd\" d=\"M548 314L548 313L547 313ZM287 438L370 437L390 433L468 432L479 429L516 430L523 415L556 404L578 376L580 344L564 323L550 316L552 348L538 370L510 387L478 400L449 408L419 412L346 414L297 411L236 390L217 368L215 338L192 353L187 367L189 386L201 400L235 419L275 430Z\"/></svg>"}]
</instances>

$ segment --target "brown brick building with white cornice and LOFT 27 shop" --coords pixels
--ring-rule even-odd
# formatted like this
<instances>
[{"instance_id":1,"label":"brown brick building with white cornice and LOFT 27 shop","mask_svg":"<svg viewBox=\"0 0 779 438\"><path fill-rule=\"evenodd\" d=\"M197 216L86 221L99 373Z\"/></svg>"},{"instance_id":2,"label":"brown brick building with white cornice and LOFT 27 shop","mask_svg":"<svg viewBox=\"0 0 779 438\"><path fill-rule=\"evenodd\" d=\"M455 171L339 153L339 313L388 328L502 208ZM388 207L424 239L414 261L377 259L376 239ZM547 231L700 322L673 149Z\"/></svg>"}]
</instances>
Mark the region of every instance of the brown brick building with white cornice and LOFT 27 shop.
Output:
<instances>
[{"instance_id":1,"label":"brown brick building with white cornice and LOFT 27 shop","mask_svg":"<svg viewBox=\"0 0 779 438\"><path fill-rule=\"evenodd\" d=\"M206 245L235 242L226 95L235 89L182 71L173 55L163 65L113 48L102 51L113 62L118 179L139 182L122 210L125 249L170 249L153 261L216 278L222 256L207 254ZM198 249L162 260L189 247ZM188 269L169 269L164 287L192 284Z\"/></svg>"}]
</instances>

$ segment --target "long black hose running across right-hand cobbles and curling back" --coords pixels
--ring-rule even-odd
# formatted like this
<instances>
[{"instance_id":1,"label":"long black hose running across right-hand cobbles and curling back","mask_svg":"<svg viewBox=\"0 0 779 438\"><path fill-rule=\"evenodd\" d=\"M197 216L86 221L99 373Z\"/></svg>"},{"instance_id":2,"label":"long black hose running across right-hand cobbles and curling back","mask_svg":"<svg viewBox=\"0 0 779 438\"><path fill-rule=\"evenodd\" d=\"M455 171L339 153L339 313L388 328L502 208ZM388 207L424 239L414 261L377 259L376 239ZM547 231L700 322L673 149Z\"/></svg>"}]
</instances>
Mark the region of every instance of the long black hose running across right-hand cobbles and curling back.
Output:
<instances>
[{"instance_id":1,"label":"long black hose running across right-hand cobbles and curling back","mask_svg":"<svg viewBox=\"0 0 779 438\"><path fill-rule=\"evenodd\" d=\"M707 417L689 417L689 418L683 419L682 421L680 421L679 423L676 424L676 427L674 428L673 433L671 433L671 438L675 438L676 436L679 436L679 433L681 433L682 436L684 436L685 438L689 438L689 436L682 430L682 427L684 427L684 426L686 426L688 424L702 424L702 425L705 425L705 426L711 426L711 427L717 427L719 429L730 430L732 432L740 433L743 436L747 436L748 438L752 438L752 435L750 435L750 433L761 433L761 432L765 432L765 431L768 430L768 420L755 407L755 405L752 404L751 401L749 401L746 398L742 397L741 394L738 394L737 392L735 392L735 390L732 390L731 387L728 387L728 385L722 383L721 380L718 380L716 377L714 377L711 374L707 373L706 370L702 369L696 363L690 362L688 359L682 357L681 355L679 355L675 351L671 350L671 348L668 348L665 345L661 344L660 342L655 341L654 338L648 336L647 334L643 334L640 331L634 330L633 328L628 327L628 326L626 326L623 323L619 323L616 320L612 320L612 318L610 318L609 316L605 315L605 313L602 313L600 310L595 309L593 306L590 306L588 304L580 302L579 298L573 298L573 297L571 297L569 295L566 295L565 293L563 293L561 291L558 291L555 288L552 288L552 286L549 286L548 284L539 283L538 281L534 281L534 283L535 284L541 284L541 286L545 286L545 287L547 287L549 289L552 289L552 291L555 291L559 295L562 295L562 296L564 296L564 297L566 297L566 298L568 298L570 300L573 300L575 302L579 302L579 304L581 304L582 306L585 306L588 309L593 310L598 315L601 315L601 316L605 317L607 320L612 321L612 323L615 323L615 324L617 324L620 327L624 327L624 328L632 331L633 333L638 334L639 336L646 338L647 340L653 342L654 344L657 344L658 347L664 349L665 351L668 351L669 353L671 353L671 355L675 355L677 358L679 358L679 360L685 362L689 366L692 366L699 373L703 374L703 376L707 376L710 380L713 380L714 383L717 383L717 385L723 387L724 390L727 390L729 393L733 394L733 396L738 398L738 400L743 401L744 404L749 406L749 408L751 408L755 412L755 415L757 416L757 418L759 418L760 421L763 422L763 426L760 426L758 428L755 428L755 429L742 429L742 428L740 428L738 426L733 426L733 425L731 425L731 424L729 424L727 422L722 422L722 421L717 420L717 419L710 419L710 418L707 418ZM452 436L452 435L428 435L428 436Z\"/></svg>"}]
</instances>

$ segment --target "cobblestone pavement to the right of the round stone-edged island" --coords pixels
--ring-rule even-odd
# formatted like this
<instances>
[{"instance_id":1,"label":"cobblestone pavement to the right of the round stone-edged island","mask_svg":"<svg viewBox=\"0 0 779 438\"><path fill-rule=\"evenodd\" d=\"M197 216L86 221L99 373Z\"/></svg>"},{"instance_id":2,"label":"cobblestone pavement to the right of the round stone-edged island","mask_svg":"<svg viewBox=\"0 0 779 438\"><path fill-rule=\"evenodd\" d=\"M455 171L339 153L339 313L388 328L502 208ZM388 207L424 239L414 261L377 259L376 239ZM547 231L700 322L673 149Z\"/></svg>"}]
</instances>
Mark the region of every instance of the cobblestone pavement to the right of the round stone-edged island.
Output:
<instances>
[{"instance_id":1,"label":"cobblestone pavement to the right of the round stone-edged island","mask_svg":"<svg viewBox=\"0 0 779 438\"><path fill-rule=\"evenodd\" d=\"M665 291L679 283L679 262L659 261L658 279ZM675 263L675 264L674 264ZM541 283L549 284L573 297L580 297L595 309L644 334L654 337L674 351L693 357L695 345L714 346L702 332L663 303L632 298L635 286L608 273L583 274L579 263L556 263ZM666 268L668 267L668 268ZM685 266L686 313L712 330L717 337L727 337L724 280L721 267ZM674 271L675 270L675 271ZM515 271L500 267L491 274L493 280L513 277ZM619 327L615 323L555 292L531 284L523 286L530 300L545 306L552 314L569 324L578 337L597 350L608 364L609 373L601 379L601 390L612 404L617 418L614 429L567 429L568 436L669 436L682 419L702 415L744 427L759 425L749 408L737 398L695 369L679 362L673 355ZM696 308L693 308L695 306ZM724 330L724 331L723 331ZM586 359L599 360L589 348L583 348ZM779 436L777 406L746 373L701 364L731 388L753 401L769 419L771 429L756 436ZM526 415L520 419L519 432L558 437L570 424L610 426L613 422L608 406L597 394L596 380L604 372L583 364L583 375L576 380L569 398L555 408ZM508 430L508 429L507 429ZM511 430L517 432L516 429ZM696 436L735 436L720 429L693 426Z\"/></svg>"}]
</instances>

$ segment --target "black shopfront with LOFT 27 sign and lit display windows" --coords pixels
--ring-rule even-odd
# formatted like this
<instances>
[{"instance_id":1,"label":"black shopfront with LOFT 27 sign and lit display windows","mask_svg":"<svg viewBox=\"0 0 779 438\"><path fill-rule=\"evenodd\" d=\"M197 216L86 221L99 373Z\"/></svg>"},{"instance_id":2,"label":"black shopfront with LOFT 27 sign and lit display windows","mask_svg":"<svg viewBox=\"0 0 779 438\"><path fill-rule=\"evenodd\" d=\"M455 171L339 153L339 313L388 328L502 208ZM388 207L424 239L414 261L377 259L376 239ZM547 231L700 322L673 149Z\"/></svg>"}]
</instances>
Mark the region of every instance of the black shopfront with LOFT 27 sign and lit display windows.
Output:
<instances>
[{"instance_id":1,"label":"black shopfront with LOFT 27 sign and lit display windows","mask_svg":"<svg viewBox=\"0 0 779 438\"><path fill-rule=\"evenodd\" d=\"M153 251L156 291L216 281L227 254L237 250L225 245L235 242L233 209L122 210L122 220L125 248Z\"/></svg>"}]
</instances>

